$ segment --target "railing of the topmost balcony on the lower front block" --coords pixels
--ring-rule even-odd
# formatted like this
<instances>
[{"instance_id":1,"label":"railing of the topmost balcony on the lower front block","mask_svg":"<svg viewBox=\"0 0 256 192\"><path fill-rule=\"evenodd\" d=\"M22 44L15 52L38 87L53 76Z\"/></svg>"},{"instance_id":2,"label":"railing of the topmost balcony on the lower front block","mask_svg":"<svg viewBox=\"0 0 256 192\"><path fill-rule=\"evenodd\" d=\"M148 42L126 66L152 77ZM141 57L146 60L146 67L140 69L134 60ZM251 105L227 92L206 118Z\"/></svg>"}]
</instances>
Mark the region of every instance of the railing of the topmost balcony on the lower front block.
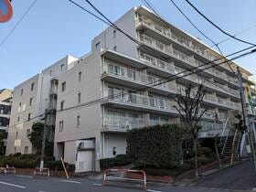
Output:
<instances>
[{"instance_id":1,"label":"railing of the topmost balcony on the lower front block","mask_svg":"<svg viewBox=\"0 0 256 192\"><path fill-rule=\"evenodd\" d=\"M165 82L158 85L158 83L161 82L160 78L156 78L151 75L145 75L144 73L140 73L136 70L123 68L112 63L107 63L104 66L104 71L124 80L136 81L149 86L155 85L155 88L161 89L163 91L176 91L175 82Z\"/></svg>"}]
</instances>

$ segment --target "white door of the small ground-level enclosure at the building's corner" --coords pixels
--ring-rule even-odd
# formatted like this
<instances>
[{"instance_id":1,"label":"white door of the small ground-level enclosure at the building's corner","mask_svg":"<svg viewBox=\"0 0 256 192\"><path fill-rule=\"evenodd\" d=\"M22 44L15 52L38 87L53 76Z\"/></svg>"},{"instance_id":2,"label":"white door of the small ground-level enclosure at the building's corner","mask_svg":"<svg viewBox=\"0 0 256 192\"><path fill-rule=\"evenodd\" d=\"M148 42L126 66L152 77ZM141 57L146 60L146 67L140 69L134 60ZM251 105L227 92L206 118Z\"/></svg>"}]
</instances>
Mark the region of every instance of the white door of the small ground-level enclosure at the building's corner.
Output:
<instances>
[{"instance_id":1,"label":"white door of the small ground-level enclosure at the building's corner","mask_svg":"<svg viewBox=\"0 0 256 192\"><path fill-rule=\"evenodd\" d=\"M76 162L76 172L93 171L93 151L78 151L78 158Z\"/></svg>"}]
</instances>

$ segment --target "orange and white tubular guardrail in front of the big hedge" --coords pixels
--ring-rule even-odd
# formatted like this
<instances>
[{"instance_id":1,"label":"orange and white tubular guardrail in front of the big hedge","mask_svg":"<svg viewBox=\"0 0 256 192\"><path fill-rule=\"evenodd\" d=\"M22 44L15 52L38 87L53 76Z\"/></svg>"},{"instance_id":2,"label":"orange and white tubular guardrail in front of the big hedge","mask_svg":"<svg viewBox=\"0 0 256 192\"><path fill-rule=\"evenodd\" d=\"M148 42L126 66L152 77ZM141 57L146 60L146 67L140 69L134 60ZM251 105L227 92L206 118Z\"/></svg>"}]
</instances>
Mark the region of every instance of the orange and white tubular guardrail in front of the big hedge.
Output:
<instances>
[{"instance_id":1,"label":"orange and white tubular guardrail in front of the big hedge","mask_svg":"<svg viewBox=\"0 0 256 192\"><path fill-rule=\"evenodd\" d=\"M111 173L124 173L127 175L127 173L140 173L143 175L142 179L139 178L127 178L127 177L118 177L118 176L111 176ZM109 175L108 175L109 174ZM143 188L146 190L146 175L143 170L131 170L131 169L106 169L103 172L103 186L106 185L107 181L138 181L143 183Z\"/></svg>"}]
</instances>

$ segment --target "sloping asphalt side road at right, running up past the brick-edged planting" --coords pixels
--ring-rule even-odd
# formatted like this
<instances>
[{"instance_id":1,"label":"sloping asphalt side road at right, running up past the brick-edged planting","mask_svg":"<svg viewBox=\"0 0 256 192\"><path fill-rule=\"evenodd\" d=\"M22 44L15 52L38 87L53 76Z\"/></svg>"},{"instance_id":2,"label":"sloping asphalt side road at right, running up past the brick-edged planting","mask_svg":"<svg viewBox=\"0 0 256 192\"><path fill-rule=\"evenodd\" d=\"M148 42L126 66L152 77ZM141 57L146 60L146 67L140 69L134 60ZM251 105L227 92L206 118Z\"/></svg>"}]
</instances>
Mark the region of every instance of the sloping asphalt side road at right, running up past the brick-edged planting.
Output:
<instances>
[{"instance_id":1,"label":"sloping asphalt side road at right, running up past the brick-edged planting","mask_svg":"<svg viewBox=\"0 0 256 192\"><path fill-rule=\"evenodd\" d=\"M195 186L236 190L256 189L256 170L251 161L246 161L240 165L235 165L210 176L201 178L197 181Z\"/></svg>"}]
</instances>

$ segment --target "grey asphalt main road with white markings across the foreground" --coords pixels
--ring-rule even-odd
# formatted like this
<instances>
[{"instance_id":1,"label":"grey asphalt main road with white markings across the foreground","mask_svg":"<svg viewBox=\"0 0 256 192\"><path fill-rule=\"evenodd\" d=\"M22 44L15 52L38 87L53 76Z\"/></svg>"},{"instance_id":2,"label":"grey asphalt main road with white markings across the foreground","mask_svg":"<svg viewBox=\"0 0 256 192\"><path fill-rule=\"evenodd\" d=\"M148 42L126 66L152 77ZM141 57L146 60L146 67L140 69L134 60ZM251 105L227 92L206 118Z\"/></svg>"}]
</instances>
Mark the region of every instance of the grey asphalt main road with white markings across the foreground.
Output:
<instances>
[{"instance_id":1,"label":"grey asphalt main road with white markings across the foreground","mask_svg":"<svg viewBox=\"0 0 256 192\"><path fill-rule=\"evenodd\" d=\"M0 192L133 192L144 191L136 184L108 183L101 186L101 180L85 178L63 179L47 176L0 175ZM172 187L169 185L148 185L148 192L209 192L211 189L195 187ZM221 190L212 190L222 192ZM223 190L223 192L226 190Z\"/></svg>"}]
</instances>

